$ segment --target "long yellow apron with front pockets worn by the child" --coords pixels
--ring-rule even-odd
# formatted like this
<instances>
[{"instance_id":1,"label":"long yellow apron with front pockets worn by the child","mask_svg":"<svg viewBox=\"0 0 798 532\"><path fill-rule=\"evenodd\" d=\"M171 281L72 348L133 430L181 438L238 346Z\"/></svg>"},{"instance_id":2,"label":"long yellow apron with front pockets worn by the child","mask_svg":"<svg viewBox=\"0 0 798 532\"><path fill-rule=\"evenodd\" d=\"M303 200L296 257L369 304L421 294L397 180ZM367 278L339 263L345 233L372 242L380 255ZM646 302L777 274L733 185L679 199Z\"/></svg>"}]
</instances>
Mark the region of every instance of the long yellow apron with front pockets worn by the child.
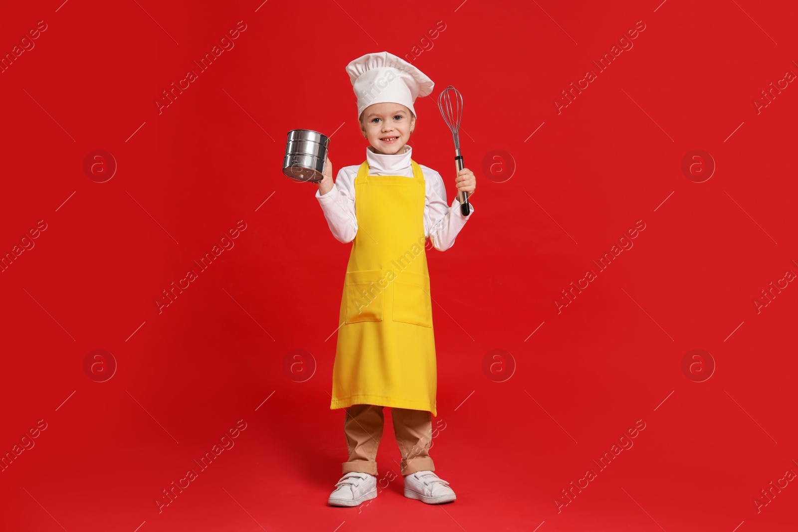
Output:
<instances>
[{"instance_id":1,"label":"long yellow apron with front pockets worn by the child","mask_svg":"<svg viewBox=\"0 0 798 532\"><path fill-rule=\"evenodd\" d=\"M358 233L346 266L330 408L353 404L426 410L437 416L433 307L424 235L425 179L354 180Z\"/></svg>"}]
</instances>

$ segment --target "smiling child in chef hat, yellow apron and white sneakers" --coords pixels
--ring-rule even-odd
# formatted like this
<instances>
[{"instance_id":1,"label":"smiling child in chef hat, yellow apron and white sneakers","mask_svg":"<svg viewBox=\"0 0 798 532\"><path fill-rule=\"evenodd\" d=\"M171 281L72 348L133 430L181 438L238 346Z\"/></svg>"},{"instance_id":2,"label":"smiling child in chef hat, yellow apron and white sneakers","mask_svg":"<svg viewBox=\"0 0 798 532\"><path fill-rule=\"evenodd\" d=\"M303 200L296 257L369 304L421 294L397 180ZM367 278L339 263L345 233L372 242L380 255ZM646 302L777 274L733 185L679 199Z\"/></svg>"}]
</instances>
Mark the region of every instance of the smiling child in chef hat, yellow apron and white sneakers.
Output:
<instances>
[{"instance_id":1,"label":"smiling child in chef hat, yellow apron and white sneakers","mask_svg":"<svg viewBox=\"0 0 798 532\"><path fill-rule=\"evenodd\" d=\"M377 446L390 407L401 451L405 497L430 504L455 499L429 457L437 416L437 367L425 240L448 250L468 216L446 203L437 171L417 164L407 145L413 102L433 81L391 53L369 53L346 67L358 97L365 162L342 167L333 182L326 160L316 198L340 242L353 242L338 322L330 408L346 408L349 459L328 502L358 506L377 497ZM457 172L458 191L476 177ZM469 202L469 205L471 203Z\"/></svg>"}]
</instances>

